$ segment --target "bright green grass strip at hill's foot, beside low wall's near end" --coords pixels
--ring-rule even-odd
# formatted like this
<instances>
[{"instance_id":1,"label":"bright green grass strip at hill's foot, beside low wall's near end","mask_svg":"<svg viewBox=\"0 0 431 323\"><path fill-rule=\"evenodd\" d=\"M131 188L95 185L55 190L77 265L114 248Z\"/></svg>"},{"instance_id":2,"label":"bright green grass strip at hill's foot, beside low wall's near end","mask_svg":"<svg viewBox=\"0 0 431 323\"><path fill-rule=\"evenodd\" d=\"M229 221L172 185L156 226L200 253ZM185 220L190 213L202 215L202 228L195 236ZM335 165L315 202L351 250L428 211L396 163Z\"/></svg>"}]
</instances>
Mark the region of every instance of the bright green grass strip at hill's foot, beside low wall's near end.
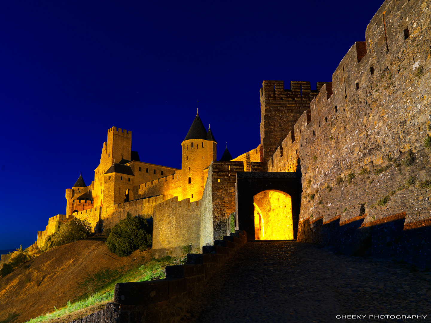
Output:
<instances>
[{"instance_id":1,"label":"bright green grass strip at hill's foot, beside low wall's near end","mask_svg":"<svg viewBox=\"0 0 431 323\"><path fill-rule=\"evenodd\" d=\"M109 291L103 294L96 293L94 295L91 295L87 299L84 299L82 301L77 301L75 303L67 302L67 305L59 310L57 310L54 307L54 311L51 313L47 313L44 315L41 315L39 317L35 317L34 319L28 320L27 323L38 323L38 322L44 322L47 320L55 320L57 317L75 312L77 310L81 310L85 307L90 307L98 303L103 303L105 301L110 301L114 298L114 291ZM3 321L2 321L3 322Z\"/></svg>"}]
</instances>

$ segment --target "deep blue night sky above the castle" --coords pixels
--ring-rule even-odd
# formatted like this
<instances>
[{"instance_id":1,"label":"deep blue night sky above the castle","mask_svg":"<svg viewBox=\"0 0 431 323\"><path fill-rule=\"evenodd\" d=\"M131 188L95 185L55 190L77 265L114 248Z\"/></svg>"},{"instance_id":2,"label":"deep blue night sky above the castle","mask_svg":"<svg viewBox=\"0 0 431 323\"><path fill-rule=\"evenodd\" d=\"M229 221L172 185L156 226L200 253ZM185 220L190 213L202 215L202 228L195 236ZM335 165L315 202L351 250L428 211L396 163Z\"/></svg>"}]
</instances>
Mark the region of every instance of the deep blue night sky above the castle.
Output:
<instances>
[{"instance_id":1,"label":"deep blue night sky above the castle","mask_svg":"<svg viewBox=\"0 0 431 323\"><path fill-rule=\"evenodd\" d=\"M181 168L199 100L219 158L257 147L262 81L331 81L382 2L1 1L0 249L65 213L111 126Z\"/></svg>"}]
</instances>

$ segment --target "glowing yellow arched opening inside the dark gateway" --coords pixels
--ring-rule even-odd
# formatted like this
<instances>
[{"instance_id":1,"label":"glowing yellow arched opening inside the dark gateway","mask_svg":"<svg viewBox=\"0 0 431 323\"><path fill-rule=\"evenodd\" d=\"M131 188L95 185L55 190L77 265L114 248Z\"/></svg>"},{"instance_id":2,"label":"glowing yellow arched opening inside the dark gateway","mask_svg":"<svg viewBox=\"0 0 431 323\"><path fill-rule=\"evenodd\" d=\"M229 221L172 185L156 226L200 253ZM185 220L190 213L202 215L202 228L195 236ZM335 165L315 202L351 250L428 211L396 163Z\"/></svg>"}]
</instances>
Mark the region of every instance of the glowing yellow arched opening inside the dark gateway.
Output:
<instances>
[{"instance_id":1,"label":"glowing yellow arched opening inside the dark gateway","mask_svg":"<svg viewBox=\"0 0 431 323\"><path fill-rule=\"evenodd\" d=\"M253 197L256 240L294 238L292 198L281 191L268 190Z\"/></svg>"}]
</instances>

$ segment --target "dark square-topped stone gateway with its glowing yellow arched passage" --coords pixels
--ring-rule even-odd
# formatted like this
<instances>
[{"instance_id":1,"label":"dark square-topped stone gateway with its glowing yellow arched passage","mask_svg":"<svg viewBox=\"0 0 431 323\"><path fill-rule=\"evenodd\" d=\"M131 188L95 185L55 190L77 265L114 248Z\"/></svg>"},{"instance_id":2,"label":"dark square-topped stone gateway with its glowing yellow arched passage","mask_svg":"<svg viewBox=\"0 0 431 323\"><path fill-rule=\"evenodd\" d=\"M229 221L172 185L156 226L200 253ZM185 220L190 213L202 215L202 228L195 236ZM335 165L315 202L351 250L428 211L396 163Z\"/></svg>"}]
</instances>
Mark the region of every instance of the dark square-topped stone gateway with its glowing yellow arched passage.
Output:
<instances>
[{"instance_id":1,"label":"dark square-topped stone gateway with its glowing yellow arched passage","mask_svg":"<svg viewBox=\"0 0 431 323\"><path fill-rule=\"evenodd\" d=\"M300 172L237 172L236 228L249 241L296 239L301 193Z\"/></svg>"}]
</instances>

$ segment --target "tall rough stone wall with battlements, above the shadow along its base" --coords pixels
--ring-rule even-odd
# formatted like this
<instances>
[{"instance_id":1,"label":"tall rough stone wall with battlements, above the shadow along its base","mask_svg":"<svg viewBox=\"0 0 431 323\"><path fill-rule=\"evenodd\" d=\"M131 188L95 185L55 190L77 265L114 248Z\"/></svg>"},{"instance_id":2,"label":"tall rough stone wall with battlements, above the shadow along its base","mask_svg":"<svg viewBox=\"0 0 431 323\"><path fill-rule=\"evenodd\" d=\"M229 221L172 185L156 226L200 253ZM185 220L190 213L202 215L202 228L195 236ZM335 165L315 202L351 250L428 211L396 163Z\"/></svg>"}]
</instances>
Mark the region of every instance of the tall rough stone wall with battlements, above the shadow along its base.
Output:
<instances>
[{"instance_id":1,"label":"tall rough stone wall with battlements, above the shadow along its base","mask_svg":"<svg viewBox=\"0 0 431 323\"><path fill-rule=\"evenodd\" d=\"M332 83L268 159L269 172L294 171L300 159L298 240L332 243L322 227L330 223L372 227L401 219L404 230L429 226L430 22L429 1L385 1L366 41L350 48ZM280 83L264 82L263 106ZM396 248L389 234L384 239Z\"/></svg>"}]
</instances>

